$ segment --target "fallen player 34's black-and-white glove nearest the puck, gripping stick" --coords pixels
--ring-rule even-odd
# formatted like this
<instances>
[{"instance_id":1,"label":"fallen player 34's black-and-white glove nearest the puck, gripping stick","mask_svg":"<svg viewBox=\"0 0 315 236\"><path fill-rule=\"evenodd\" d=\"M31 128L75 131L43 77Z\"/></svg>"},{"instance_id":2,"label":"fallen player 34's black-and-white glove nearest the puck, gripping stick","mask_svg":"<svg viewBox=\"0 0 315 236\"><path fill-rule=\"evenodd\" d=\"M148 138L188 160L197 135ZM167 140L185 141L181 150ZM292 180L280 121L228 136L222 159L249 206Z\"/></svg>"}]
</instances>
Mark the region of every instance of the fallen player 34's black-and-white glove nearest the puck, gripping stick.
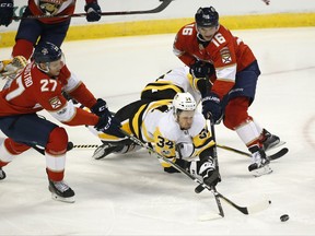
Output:
<instances>
[{"instance_id":1,"label":"fallen player 34's black-and-white glove nearest the puck, gripping stick","mask_svg":"<svg viewBox=\"0 0 315 236\"><path fill-rule=\"evenodd\" d=\"M221 181L219 170L215 169L212 157L209 157L200 166L199 174L202 176L203 182L210 187L215 187Z\"/></svg>"}]
</instances>

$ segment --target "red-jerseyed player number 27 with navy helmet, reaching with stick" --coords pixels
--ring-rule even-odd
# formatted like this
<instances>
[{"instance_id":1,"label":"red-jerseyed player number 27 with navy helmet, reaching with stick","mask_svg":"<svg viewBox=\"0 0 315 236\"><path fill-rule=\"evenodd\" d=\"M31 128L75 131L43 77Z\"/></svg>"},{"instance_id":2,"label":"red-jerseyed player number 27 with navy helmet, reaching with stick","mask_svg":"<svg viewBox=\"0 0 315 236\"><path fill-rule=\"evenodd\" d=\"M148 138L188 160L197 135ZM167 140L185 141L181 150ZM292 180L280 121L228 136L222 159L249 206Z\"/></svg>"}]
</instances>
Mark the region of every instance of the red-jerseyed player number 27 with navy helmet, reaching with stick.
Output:
<instances>
[{"instance_id":1,"label":"red-jerseyed player number 27 with navy helmet, reaching with stick","mask_svg":"<svg viewBox=\"0 0 315 236\"><path fill-rule=\"evenodd\" d=\"M51 43L36 46L34 61L0 92L0 129L8 137L0 146L0 180L2 167L31 146L45 149L46 172L52 198L73 202L74 191L63 181L68 134L65 128L37 116L47 110L68 126L93 126L112 135L121 135L106 105L85 87L65 64L61 49ZM90 111L74 107L61 92L66 91Z\"/></svg>"}]
</instances>

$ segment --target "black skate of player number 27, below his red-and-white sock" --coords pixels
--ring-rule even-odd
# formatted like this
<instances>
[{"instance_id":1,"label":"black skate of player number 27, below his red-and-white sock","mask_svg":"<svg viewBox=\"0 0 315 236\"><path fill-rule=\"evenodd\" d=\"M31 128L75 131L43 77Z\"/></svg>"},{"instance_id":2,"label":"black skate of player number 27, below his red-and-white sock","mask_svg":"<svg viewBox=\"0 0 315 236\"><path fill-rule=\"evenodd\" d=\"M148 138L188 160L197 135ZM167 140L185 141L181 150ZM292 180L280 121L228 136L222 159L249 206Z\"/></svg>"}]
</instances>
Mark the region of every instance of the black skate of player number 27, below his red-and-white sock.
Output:
<instances>
[{"instance_id":1,"label":"black skate of player number 27, below his red-and-white sock","mask_svg":"<svg viewBox=\"0 0 315 236\"><path fill-rule=\"evenodd\" d=\"M62 180L51 181L49 180L49 191L54 200L63 202L74 202L74 191Z\"/></svg>"}]
</instances>

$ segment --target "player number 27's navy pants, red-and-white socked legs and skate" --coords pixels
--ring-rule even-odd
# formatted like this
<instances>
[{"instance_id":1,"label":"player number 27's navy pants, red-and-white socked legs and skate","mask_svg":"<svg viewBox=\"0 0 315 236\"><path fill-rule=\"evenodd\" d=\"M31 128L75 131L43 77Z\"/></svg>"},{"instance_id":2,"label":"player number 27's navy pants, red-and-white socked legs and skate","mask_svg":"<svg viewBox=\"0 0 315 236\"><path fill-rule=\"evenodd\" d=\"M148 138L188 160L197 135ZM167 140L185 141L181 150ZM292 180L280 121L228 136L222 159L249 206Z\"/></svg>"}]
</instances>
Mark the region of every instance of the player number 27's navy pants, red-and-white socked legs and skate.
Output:
<instances>
[{"instance_id":1,"label":"player number 27's navy pants, red-and-white socked legs and skate","mask_svg":"<svg viewBox=\"0 0 315 236\"><path fill-rule=\"evenodd\" d=\"M63 181L68 134L63 128L39 118L36 114L1 118L2 132L11 138L10 145L2 146L0 152L11 155L22 153L23 149L33 145L45 148L46 172L52 198L73 202L73 190ZM26 144L26 145L25 145ZM23 151L23 150L22 150ZM25 150L24 150L25 151Z\"/></svg>"}]
</instances>

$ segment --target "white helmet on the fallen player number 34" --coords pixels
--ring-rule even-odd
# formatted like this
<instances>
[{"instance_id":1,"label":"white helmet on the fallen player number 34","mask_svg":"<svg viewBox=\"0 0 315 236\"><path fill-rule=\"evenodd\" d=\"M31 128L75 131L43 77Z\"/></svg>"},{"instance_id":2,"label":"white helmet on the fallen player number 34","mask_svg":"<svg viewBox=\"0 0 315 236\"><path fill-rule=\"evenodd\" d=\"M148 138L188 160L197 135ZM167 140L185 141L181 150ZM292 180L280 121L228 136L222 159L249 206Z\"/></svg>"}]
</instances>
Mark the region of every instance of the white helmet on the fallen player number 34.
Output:
<instances>
[{"instance_id":1,"label":"white helmet on the fallen player number 34","mask_svg":"<svg viewBox=\"0 0 315 236\"><path fill-rule=\"evenodd\" d=\"M178 113L184 110L196 110L197 103L194 96L186 92L186 93L177 93L173 99L173 109L174 115L178 115Z\"/></svg>"}]
</instances>

